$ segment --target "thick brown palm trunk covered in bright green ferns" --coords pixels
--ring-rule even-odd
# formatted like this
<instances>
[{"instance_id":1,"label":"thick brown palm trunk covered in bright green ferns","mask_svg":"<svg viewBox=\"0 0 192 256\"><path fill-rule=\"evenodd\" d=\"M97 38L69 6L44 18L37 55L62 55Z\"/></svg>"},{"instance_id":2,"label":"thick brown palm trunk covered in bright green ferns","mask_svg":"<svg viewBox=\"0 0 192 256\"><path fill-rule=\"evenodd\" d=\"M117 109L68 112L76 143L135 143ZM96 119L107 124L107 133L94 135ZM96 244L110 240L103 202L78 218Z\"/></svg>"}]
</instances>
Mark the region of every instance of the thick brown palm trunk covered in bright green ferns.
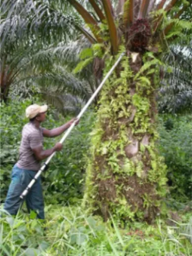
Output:
<instances>
[{"instance_id":1,"label":"thick brown palm trunk covered in bright green ferns","mask_svg":"<svg viewBox=\"0 0 192 256\"><path fill-rule=\"evenodd\" d=\"M166 168L156 151L155 84L150 69L138 79L142 54L125 57L101 93L87 167L84 204L107 220L151 222L166 192Z\"/></svg>"}]
</instances>

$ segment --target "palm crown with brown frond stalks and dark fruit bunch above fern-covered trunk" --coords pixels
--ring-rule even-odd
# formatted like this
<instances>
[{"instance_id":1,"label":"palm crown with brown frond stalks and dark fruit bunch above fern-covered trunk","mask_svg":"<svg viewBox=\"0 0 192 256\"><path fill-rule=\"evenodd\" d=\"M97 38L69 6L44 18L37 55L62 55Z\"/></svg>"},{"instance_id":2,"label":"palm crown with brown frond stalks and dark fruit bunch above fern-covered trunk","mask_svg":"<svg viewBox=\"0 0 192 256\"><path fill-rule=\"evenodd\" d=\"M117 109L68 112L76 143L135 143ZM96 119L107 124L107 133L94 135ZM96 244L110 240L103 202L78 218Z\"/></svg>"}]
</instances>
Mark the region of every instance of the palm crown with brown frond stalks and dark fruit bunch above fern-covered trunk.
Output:
<instances>
[{"instance_id":1,"label":"palm crown with brown frond stalks and dark fruit bunch above fern-covered trunk","mask_svg":"<svg viewBox=\"0 0 192 256\"><path fill-rule=\"evenodd\" d=\"M98 21L78 1L68 1L76 8L86 24L89 24L92 35L89 34L87 39L91 43L93 39L90 39L90 36L94 37L94 42L104 43L100 24L108 24L113 54L118 51L122 35L126 39L126 47L129 51L140 52L149 49L157 51L155 45L159 40L173 40L177 36L177 33L170 35L170 32L175 24L178 25L178 18L190 4L188 1L177 0L119 0L115 10L110 0L89 0L99 18ZM177 6L174 9L175 5ZM166 22L165 14L169 15ZM190 24L183 23L183 26L189 27Z\"/></svg>"}]
</instances>

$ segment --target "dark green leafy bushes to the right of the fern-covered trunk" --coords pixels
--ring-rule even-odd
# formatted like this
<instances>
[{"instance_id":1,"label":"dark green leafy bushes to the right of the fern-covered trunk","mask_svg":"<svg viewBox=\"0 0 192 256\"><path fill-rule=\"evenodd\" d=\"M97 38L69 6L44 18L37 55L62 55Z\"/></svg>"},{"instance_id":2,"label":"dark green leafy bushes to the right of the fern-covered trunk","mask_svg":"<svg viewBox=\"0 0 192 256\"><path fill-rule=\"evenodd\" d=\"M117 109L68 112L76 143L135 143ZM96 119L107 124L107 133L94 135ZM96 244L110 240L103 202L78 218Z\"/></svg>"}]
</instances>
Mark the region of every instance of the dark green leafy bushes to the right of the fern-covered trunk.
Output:
<instances>
[{"instance_id":1,"label":"dark green leafy bushes to the right of the fern-covered trunk","mask_svg":"<svg viewBox=\"0 0 192 256\"><path fill-rule=\"evenodd\" d=\"M192 198L192 116L160 117L159 150L168 167L168 184L174 198Z\"/></svg>"}]
</instances>

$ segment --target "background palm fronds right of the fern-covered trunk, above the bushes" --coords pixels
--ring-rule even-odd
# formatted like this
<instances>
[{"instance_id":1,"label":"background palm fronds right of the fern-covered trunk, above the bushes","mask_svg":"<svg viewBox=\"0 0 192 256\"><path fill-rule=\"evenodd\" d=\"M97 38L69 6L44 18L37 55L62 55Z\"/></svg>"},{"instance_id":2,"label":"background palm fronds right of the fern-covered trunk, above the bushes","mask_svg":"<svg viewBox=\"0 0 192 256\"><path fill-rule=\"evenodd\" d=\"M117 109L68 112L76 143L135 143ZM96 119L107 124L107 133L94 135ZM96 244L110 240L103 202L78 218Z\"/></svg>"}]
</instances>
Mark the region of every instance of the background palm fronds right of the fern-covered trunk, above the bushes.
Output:
<instances>
[{"instance_id":1,"label":"background palm fronds right of the fern-covered trunk, above the bushes","mask_svg":"<svg viewBox=\"0 0 192 256\"><path fill-rule=\"evenodd\" d=\"M174 47L165 54L164 59L172 66L172 72L161 72L163 79L158 95L158 111L191 113L192 47Z\"/></svg>"}]
</instances>

